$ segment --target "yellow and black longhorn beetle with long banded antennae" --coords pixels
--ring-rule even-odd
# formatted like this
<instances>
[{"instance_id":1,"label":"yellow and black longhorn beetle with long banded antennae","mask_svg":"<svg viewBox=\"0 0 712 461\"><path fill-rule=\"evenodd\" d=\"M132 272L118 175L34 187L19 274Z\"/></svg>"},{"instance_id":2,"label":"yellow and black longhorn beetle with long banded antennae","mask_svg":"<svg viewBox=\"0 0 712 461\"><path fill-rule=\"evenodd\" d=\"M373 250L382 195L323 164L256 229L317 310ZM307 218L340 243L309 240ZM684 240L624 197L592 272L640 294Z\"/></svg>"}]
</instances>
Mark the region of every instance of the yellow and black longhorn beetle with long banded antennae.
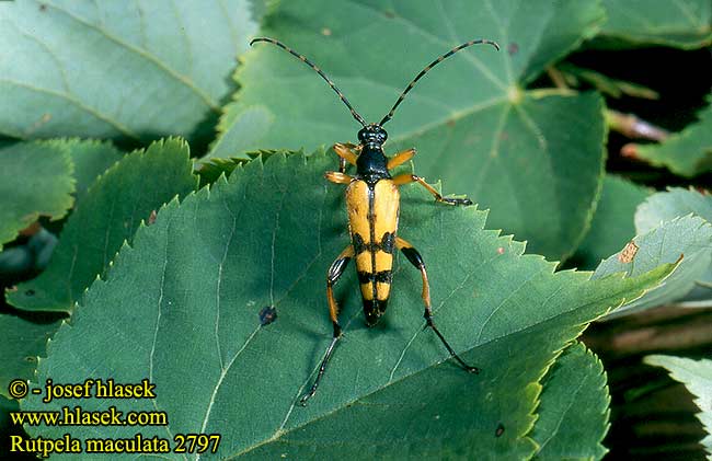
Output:
<instances>
[{"instance_id":1,"label":"yellow and black longhorn beetle with long banded antennae","mask_svg":"<svg viewBox=\"0 0 712 461\"><path fill-rule=\"evenodd\" d=\"M443 197L435 187L415 174L391 176L389 171L411 160L415 155L415 149L404 150L395 153L391 158L387 158L383 153L383 142L386 142L388 134L383 129L383 125L393 117L395 108L403 102L403 99L413 89L415 83L444 59L472 45L487 44L494 46L497 50L499 49L499 45L487 39L470 41L438 56L437 59L425 66L407 87L405 87L405 90L398 97L393 107L391 107L390 112L379 123L366 124L364 117L354 110L346 96L344 96L331 79L305 56L274 38L254 38L250 42L250 45L252 46L255 42L266 42L276 45L312 68L336 92L338 99L351 111L352 116L363 126L358 131L358 145L334 145L334 152L338 155L338 171L330 171L324 174L326 180L332 183L347 185L346 208L348 210L351 244L341 252L326 274L326 300L329 301L329 313L331 314L331 322L334 326L334 334L319 367L317 379L309 392L301 397L300 403L306 405L307 401L317 392L329 359L342 335L341 325L338 324L338 306L336 304L333 292L334 284L341 278L348 262L355 257L361 298L364 300L366 324L368 326L376 325L381 315L383 315L383 312L386 312L388 298L391 292L393 249L400 250L407 261L421 272L421 276L423 277L422 297L425 303L425 327L429 326L435 332L445 348L450 353L450 356L467 371L473 373L479 372L478 368L467 365L457 355L445 339L445 336L443 336L443 333L435 326L433 311L430 309L430 288L423 257L413 245L395 235L398 232L398 215L400 209L399 186L418 183L433 194L436 201L444 204L472 205L472 201L467 198ZM346 174L346 163L356 166L355 175Z\"/></svg>"}]
</instances>

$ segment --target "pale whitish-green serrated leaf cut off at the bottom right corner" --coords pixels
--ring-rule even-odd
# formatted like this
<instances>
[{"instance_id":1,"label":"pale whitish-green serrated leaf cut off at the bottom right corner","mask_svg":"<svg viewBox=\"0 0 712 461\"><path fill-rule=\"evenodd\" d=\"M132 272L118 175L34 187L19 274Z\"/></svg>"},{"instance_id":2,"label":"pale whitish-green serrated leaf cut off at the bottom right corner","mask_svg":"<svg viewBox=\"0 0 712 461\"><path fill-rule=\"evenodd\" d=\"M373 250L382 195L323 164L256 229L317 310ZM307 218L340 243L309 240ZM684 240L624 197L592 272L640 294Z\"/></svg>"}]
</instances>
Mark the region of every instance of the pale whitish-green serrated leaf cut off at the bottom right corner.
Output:
<instances>
[{"instance_id":1,"label":"pale whitish-green serrated leaf cut off at the bottom right corner","mask_svg":"<svg viewBox=\"0 0 712 461\"><path fill-rule=\"evenodd\" d=\"M696 396L694 403L702 411L697 417L708 434L700 443L707 450L708 459L712 459L712 360L654 355L645 357L644 361L666 368L674 380L684 383Z\"/></svg>"}]
</instances>

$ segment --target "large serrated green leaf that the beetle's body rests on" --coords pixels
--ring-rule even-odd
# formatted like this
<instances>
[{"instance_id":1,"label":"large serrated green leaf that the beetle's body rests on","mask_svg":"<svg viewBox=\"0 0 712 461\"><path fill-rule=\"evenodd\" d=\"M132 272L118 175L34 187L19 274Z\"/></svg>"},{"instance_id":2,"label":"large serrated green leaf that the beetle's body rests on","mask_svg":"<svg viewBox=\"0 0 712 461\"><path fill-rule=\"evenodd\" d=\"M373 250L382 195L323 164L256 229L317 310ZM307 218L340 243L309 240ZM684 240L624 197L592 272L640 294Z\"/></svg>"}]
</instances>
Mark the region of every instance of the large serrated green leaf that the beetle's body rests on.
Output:
<instances>
[{"instance_id":1,"label":"large serrated green leaf that the beetle's body rests on","mask_svg":"<svg viewBox=\"0 0 712 461\"><path fill-rule=\"evenodd\" d=\"M398 256L389 312L375 329L360 318L355 270L336 286L344 338L319 393L301 407L331 341L324 275L348 243L343 188L322 177L333 163L324 153L275 154L171 201L50 343L38 382L148 379L154 400L90 399L82 407L165 411L168 426L27 430L169 439L219 433L221 458L529 458L538 382L558 350L673 268L594 281L587 273L554 274L554 263L483 230L485 212L404 187L400 234L428 265L435 320L482 371L464 372L423 330L421 276ZM267 306L277 319L261 326ZM66 404L38 399L22 408Z\"/></svg>"}]
</instances>

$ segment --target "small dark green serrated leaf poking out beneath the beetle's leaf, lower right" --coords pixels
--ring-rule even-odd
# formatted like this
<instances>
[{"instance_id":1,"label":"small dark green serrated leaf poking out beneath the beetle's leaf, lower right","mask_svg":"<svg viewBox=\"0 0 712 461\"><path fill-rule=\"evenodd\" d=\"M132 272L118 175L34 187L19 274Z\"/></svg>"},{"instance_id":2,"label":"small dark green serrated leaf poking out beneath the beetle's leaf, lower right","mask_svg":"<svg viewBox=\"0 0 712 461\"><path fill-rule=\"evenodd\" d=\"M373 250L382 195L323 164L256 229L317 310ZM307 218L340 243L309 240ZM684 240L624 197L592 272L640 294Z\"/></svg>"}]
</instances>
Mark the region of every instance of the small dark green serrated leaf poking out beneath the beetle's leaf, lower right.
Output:
<instances>
[{"instance_id":1,"label":"small dark green serrated leaf poking out beneath the beetle's leaf, lower right","mask_svg":"<svg viewBox=\"0 0 712 461\"><path fill-rule=\"evenodd\" d=\"M608 451L610 395L598 357L575 344L556 359L541 382L539 419L531 438L537 460L594 460Z\"/></svg>"}]
</instances>

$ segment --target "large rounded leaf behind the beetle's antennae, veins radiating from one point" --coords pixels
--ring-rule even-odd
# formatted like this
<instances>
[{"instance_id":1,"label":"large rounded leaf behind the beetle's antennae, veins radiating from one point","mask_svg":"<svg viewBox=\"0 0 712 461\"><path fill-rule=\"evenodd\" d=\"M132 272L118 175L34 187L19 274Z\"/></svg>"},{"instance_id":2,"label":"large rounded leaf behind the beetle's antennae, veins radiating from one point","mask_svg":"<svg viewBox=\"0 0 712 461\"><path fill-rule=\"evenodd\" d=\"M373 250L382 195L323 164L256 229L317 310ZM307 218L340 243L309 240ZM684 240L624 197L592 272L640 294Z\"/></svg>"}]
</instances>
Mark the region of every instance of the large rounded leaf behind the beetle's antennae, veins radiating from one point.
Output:
<instances>
[{"instance_id":1,"label":"large rounded leaf behind the beetle's antennae, veins radiating from one point","mask_svg":"<svg viewBox=\"0 0 712 461\"><path fill-rule=\"evenodd\" d=\"M602 18L585 0L321 0L282 2L262 33L308 56L374 122L438 55L472 38L497 41L502 51L462 50L420 81L388 125L387 151L416 147L420 175L492 207L493 227L560 258L583 238L602 181L602 100L524 87L593 36ZM341 101L283 50L255 44L236 79L241 90L226 107L214 157L355 140L359 125Z\"/></svg>"}]
</instances>

